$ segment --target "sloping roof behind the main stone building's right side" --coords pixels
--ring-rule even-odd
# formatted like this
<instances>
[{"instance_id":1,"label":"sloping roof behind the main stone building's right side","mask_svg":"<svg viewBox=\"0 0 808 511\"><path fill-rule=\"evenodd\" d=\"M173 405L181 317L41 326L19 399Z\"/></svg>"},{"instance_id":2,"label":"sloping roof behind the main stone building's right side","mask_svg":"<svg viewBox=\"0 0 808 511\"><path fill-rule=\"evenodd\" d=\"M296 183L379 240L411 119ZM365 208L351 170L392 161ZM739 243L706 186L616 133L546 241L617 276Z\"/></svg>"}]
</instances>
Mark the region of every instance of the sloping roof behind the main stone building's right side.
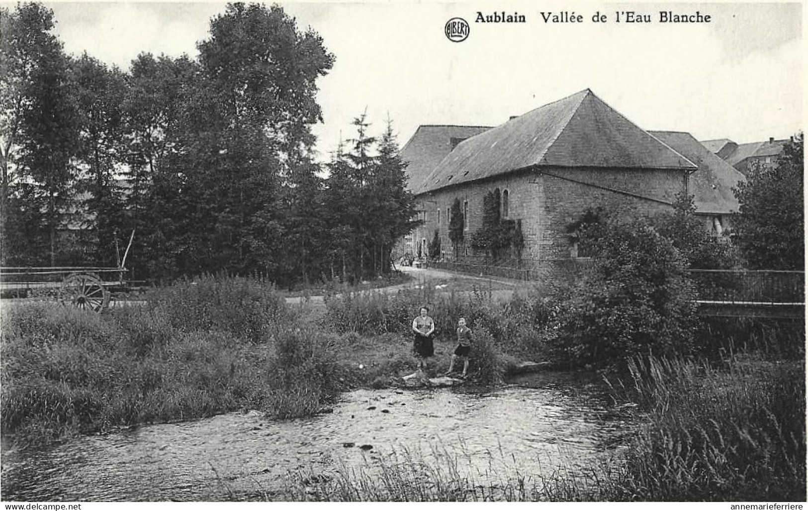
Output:
<instances>
[{"instance_id":1,"label":"sloping roof behind the main stone building's right side","mask_svg":"<svg viewBox=\"0 0 808 511\"><path fill-rule=\"evenodd\" d=\"M732 188L739 181L745 181L739 171L713 154L690 133L674 131L651 131L654 137L671 146L677 153L683 154L699 167L690 175L690 192L696 204L697 213L726 214L737 212L738 199Z\"/></svg>"}]
</instances>

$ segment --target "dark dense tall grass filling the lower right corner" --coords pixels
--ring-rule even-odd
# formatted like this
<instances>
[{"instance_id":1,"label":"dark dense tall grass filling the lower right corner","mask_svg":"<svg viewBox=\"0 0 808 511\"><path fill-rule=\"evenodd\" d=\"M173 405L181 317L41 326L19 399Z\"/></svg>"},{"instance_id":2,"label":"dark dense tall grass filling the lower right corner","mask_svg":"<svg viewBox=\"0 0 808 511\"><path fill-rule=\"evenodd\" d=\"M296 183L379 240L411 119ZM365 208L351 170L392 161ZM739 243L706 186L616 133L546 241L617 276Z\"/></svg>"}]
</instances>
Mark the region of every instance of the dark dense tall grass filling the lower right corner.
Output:
<instances>
[{"instance_id":1,"label":"dark dense tall grass filling the lower right corner","mask_svg":"<svg viewBox=\"0 0 808 511\"><path fill-rule=\"evenodd\" d=\"M648 424L617 497L805 500L805 368L747 357L634 359Z\"/></svg>"}]
</instances>

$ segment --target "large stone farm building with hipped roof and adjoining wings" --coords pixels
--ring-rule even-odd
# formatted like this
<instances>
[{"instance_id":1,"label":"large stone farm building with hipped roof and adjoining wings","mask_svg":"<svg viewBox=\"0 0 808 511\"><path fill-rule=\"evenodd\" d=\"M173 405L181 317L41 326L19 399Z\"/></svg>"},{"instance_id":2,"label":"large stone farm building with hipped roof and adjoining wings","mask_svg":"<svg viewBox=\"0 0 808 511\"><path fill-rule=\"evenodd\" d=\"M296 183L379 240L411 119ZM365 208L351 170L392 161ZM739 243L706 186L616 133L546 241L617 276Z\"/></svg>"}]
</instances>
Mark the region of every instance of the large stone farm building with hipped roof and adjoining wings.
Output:
<instances>
[{"instance_id":1,"label":"large stone farm building with hipped roof and adjoining wings","mask_svg":"<svg viewBox=\"0 0 808 511\"><path fill-rule=\"evenodd\" d=\"M502 197L501 216L520 226L525 260L578 257L570 226L587 210L649 217L671 210L686 189L705 228L721 233L738 208L731 188L743 175L688 133L647 132L589 89L495 128L465 127L479 131L453 148L448 140L427 140L448 139L455 128L464 127L422 126L402 149L424 221L414 241L425 247L437 230L444 257L452 255L452 203L460 201L465 220L459 255L473 256L468 240L482 226L483 197L494 190ZM418 150L433 146L444 152L434 164L437 151L423 157Z\"/></svg>"}]
</instances>

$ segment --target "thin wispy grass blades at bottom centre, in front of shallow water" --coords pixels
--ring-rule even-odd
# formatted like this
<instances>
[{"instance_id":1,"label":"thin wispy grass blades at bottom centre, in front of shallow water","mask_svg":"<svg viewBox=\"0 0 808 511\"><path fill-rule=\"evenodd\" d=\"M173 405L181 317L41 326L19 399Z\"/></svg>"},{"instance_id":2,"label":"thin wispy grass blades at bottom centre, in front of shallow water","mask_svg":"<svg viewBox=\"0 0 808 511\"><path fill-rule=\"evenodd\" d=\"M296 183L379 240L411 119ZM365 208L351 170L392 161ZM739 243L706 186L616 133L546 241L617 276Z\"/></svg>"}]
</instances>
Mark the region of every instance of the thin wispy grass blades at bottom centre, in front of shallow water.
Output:
<instances>
[{"instance_id":1,"label":"thin wispy grass blades at bottom centre, in front of shallow water","mask_svg":"<svg viewBox=\"0 0 808 511\"><path fill-rule=\"evenodd\" d=\"M514 460L515 461L515 460ZM481 468L482 467L482 468ZM344 464L331 471L313 469L289 475L287 500L297 501L440 501L525 502L592 500L612 471L606 460L586 470L548 467L528 474L501 453L471 455L460 448L433 444L427 451L398 448L365 458L359 467Z\"/></svg>"}]
</instances>

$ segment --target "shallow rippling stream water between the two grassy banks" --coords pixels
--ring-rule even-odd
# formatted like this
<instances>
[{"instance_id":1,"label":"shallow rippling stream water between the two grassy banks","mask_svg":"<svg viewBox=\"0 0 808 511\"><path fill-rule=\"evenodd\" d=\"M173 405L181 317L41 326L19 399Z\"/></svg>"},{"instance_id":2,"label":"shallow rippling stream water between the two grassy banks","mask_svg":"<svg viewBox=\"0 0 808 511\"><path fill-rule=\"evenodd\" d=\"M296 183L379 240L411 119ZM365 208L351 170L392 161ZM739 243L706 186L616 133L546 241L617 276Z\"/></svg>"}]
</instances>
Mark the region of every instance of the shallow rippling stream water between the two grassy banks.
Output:
<instances>
[{"instance_id":1,"label":"shallow rippling stream water between the two grassy banks","mask_svg":"<svg viewBox=\"0 0 808 511\"><path fill-rule=\"evenodd\" d=\"M534 374L487 392L362 390L306 419L231 413L6 450L2 500L283 498L290 471L361 467L393 450L428 457L436 446L481 479L503 467L583 471L618 453L631 430L602 383L581 374Z\"/></svg>"}]
</instances>

